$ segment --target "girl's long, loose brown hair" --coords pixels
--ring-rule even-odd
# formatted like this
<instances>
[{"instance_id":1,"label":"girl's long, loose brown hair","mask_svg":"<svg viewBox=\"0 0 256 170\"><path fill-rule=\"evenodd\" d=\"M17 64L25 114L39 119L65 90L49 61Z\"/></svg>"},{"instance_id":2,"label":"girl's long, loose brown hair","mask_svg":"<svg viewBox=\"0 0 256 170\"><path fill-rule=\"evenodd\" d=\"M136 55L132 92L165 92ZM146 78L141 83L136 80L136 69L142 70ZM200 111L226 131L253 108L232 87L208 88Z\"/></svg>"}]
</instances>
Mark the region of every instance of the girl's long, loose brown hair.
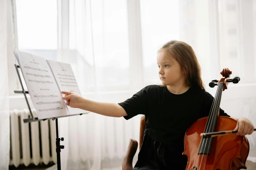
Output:
<instances>
[{"instance_id":1,"label":"girl's long, loose brown hair","mask_svg":"<svg viewBox=\"0 0 256 170\"><path fill-rule=\"evenodd\" d=\"M166 50L180 64L181 70L185 74L185 83L187 86L205 89L201 79L200 65L190 45L182 41L172 40L165 43L158 52L161 50Z\"/></svg>"}]
</instances>

